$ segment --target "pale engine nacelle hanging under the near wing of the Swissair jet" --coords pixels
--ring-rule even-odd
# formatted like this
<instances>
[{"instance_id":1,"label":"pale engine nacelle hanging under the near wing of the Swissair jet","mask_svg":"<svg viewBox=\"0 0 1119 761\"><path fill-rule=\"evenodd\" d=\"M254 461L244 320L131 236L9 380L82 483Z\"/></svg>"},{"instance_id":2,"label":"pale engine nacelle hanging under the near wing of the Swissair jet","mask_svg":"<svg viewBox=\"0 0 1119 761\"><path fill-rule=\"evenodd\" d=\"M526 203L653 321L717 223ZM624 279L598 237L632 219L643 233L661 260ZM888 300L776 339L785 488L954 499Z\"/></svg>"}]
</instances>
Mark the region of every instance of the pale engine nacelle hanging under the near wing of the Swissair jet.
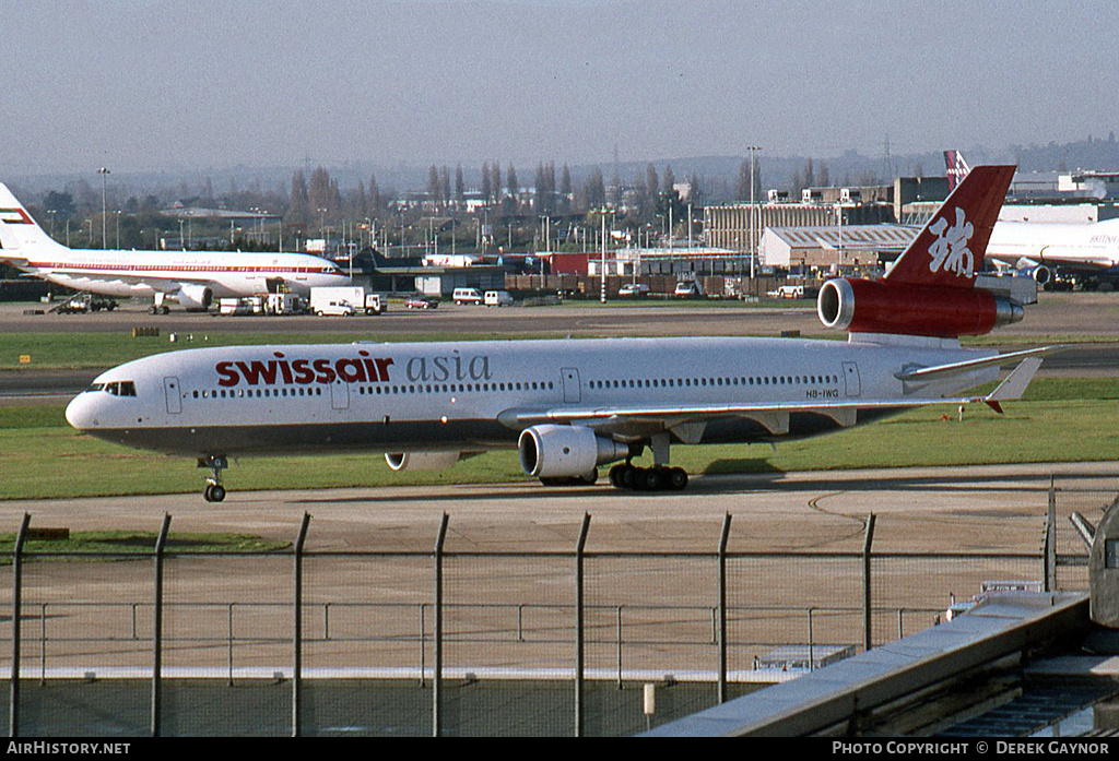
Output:
<instances>
[{"instance_id":1,"label":"pale engine nacelle hanging under the near wing of the Swissair jet","mask_svg":"<svg viewBox=\"0 0 1119 761\"><path fill-rule=\"evenodd\" d=\"M629 445L582 426L533 426L517 443L520 467L536 478L585 476L605 463L629 456Z\"/></svg>"}]
</instances>

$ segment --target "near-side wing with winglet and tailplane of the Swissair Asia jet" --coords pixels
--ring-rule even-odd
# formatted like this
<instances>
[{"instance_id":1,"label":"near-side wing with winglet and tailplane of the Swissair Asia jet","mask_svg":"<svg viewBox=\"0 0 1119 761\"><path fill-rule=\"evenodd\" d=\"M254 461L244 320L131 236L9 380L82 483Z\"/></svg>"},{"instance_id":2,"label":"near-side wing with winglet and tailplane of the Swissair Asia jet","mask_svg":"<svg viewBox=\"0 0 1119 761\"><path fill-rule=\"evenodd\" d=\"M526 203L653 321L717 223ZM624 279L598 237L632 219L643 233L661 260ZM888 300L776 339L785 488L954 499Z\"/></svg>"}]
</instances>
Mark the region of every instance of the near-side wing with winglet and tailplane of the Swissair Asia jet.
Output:
<instances>
[{"instance_id":1,"label":"near-side wing with winglet and tailplane of the Swissair Asia jet","mask_svg":"<svg viewBox=\"0 0 1119 761\"><path fill-rule=\"evenodd\" d=\"M582 425L602 434L621 437L648 436L650 431L671 430L685 443L698 440L703 426L720 418L741 417L756 421L771 434L789 430L789 416L798 412L821 415L833 419L840 427L854 426L861 410L902 410L932 405L970 405L984 402L1002 413L999 402L1018 399L1026 390L1034 373L1041 365L1040 350L1026 350L1013 354L984 358L982 364L1005 362L1008 358L1024 355L1023 361L994 391L985 397L897 397L893 399L844 399L836 401L810 400L805 402L765 402L749 405L649 405L633 407L563 407L551 410L507 410L498 416L506 426L524 429L540 424ZM934 370L965 372L982 364L975 362L955 363L966 365L941 365Z\"/></svg>"}]
</instances>

